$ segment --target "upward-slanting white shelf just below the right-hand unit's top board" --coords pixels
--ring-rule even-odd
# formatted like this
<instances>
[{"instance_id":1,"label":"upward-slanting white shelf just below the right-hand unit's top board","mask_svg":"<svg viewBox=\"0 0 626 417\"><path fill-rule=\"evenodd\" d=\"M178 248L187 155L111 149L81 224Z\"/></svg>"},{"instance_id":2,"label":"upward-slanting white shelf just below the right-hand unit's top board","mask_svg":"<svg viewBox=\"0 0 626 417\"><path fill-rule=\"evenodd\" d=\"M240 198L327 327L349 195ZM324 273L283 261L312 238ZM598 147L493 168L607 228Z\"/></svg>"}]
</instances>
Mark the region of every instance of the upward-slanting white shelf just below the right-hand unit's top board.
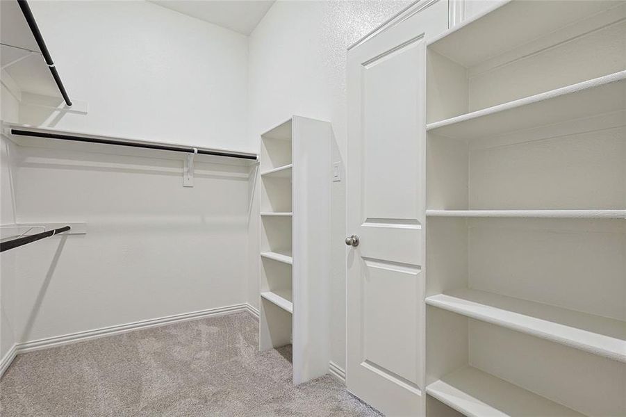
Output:
<instances>
[{"instance_id":1,"label":"upward-slanting white shelf just below the right-hand unit's top board","mask_svg":"<svg viewBox=\"0 0 626 417\"><path fill-rule=\"evenodd\" d=\"M439 122L427 131L470 140L623 110L626 71L509 101Z\"/></svg>"}]
</instances>

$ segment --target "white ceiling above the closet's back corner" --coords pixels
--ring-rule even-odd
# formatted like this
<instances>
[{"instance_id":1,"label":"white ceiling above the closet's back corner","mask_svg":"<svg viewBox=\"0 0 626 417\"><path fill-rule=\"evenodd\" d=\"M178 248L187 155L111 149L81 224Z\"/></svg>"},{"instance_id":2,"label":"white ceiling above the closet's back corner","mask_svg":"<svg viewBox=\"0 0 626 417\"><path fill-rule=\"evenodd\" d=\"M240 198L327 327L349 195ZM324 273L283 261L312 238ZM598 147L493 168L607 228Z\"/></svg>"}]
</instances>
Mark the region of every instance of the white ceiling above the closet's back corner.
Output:
<instances>
[{"instance_id":1,"label":"white ceiling above the closet's back corner","mask_svg":"<svg viewBox=\"0 0 626 417\"><path fill-rule=\"evenodd\" d=\"M261 22L274 0L150 0L205 22L249 35Z\"/></svg>"}]
</instances>

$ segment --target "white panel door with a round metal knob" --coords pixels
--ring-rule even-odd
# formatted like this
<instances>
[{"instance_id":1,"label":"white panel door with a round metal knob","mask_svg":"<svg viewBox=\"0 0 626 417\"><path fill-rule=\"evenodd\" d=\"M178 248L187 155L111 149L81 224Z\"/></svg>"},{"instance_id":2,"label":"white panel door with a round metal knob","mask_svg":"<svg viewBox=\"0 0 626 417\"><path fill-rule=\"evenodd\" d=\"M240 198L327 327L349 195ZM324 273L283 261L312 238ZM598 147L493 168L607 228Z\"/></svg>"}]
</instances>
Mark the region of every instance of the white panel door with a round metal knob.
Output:
<instances>
[{"instance_id":1,"label":"white panel door with a round metal knob","mask_svg":"<svg viewBox=\"0 0 626 417\"><path fill-rule=\"evenodd\" d=\"M348 54L346 383L388 416L425 414L425 31L447 27L441 3Z\"/></svg>"}]
</instances>

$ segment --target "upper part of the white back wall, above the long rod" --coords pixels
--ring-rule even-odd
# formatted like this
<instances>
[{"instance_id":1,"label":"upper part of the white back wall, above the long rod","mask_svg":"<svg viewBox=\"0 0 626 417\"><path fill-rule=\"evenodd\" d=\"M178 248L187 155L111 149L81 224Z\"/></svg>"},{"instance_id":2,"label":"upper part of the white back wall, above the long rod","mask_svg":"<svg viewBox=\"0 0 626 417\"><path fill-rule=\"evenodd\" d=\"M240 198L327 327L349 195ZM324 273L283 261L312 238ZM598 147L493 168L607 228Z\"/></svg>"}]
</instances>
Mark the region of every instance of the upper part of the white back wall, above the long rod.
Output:
<instances>
[{"instance_id":1,"label":"upper part of the white back wall, above the long rod","mask_svg":"<svg viewBox=\"0 0 626 417\"><path fill-rule=\"evenodd\" d=\"M88 115L27 123L242 151L247 37L146 1L33 1L72 99Z\"/></svg>"}]
</instances>

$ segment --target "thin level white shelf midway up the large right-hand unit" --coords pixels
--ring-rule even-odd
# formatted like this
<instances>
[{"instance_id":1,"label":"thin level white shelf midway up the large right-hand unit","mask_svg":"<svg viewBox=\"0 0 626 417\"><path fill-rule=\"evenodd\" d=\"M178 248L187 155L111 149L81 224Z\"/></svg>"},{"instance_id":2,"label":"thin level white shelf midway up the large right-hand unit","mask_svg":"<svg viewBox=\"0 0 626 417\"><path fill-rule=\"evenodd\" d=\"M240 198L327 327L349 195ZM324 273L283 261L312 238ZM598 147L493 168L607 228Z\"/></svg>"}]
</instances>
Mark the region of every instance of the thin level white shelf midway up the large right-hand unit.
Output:
<instances>
[{"instance_id":1,"label":"thin level white shelf midway up the large right-hand unit","mask_svg":"<svg viewBox=\"0 0 626 417\"><path fill-rule=\"evenodd\" d=\"M626 219L626 210L427 210L431 217Z\"/></svg>"}]
</instances>

